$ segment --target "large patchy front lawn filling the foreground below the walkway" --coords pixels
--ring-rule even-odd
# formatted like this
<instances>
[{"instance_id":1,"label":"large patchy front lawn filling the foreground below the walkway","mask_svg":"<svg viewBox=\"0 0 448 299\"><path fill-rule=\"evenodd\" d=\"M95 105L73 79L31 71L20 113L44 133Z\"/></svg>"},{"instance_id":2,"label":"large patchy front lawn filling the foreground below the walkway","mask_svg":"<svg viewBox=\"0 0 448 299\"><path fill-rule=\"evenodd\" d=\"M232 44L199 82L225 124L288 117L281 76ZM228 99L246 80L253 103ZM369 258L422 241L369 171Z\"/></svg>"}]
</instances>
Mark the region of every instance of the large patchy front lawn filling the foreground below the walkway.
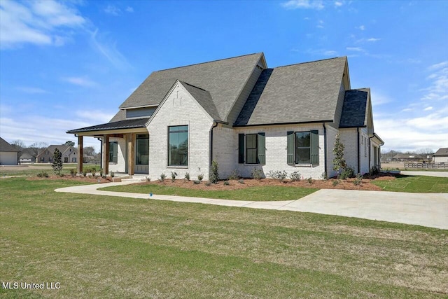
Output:
<instances>
[{"instance_id":1,"label":"large patchy front lawn filling the foreground below the walkway","mask_svg":"<svg viewBox=\"0 0 448 299\"><path fill-rule=\"evenodd\" d=\"M448 230L1 179L1 298L447 298Z\"/></svg>"}]
</instances>

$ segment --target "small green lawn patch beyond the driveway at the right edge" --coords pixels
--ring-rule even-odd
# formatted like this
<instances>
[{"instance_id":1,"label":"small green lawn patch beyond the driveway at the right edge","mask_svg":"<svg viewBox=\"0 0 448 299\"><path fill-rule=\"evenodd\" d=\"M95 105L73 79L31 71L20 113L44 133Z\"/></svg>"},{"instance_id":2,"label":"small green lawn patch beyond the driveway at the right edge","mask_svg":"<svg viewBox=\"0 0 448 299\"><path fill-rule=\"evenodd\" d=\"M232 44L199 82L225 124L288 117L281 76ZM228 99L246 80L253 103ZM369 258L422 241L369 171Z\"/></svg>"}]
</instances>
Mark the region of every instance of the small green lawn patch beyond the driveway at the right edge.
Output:
<instances>
[{"instance_id":1,"label":"small green lawn patch beyond the driveway at the right edge","mask_svg":"<svg viewBox=\"0 0 448 299\"><path fill-rule=\"evenodd\" d=\"M435 176L397 176L388 181L373 181L384 191L411 193L448 193L448 178Z\"/></svg>"}]
</instances>

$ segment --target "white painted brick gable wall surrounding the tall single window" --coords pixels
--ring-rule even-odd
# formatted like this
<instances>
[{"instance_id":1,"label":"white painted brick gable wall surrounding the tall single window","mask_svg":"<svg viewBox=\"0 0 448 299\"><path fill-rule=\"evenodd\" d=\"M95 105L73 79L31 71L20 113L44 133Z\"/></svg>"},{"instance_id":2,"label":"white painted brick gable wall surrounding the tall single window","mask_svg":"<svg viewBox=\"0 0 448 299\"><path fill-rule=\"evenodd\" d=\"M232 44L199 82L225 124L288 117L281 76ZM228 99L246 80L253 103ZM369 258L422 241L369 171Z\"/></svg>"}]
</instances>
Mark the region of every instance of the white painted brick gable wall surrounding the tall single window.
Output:
<instances>
[{"instance_id":1,"label":"white painted brick gable wall surrounding the tall single window","mask_svg":"<svg viewBox=\"0 0 448 299\"><path fill-rule=\"evenodd\" d=\"M168 167L168 127L188 125L188 167ZM158 179L165 173L167 178L172 172L183 179L186 172L190 179L204 174L209 179L209 132L213 120L192 99L181 84L177 84L167 95L167 100L158 108L148 125L149 132L149 177ZM199 169L200 168L200 169Z\"/></svg>"}]
</instances>

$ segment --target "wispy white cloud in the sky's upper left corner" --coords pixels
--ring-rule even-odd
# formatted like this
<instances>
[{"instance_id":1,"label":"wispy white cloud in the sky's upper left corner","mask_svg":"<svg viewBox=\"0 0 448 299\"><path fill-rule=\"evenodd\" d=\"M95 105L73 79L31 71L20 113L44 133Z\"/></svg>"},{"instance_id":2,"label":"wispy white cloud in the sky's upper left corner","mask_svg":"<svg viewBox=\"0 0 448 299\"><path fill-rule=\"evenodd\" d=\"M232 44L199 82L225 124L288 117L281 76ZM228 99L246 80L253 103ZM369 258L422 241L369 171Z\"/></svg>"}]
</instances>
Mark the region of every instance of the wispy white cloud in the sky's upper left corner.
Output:
<instances>
[{"instance_id":1,"label":"wispy white cloud in the sky's upper left corner","mask_svg":"<svg viewBox=\"0 0 448 299\"><path fill-rule=\"evenodd\" d=\"M71 30L86 20L78 12L53 0L0 1L0 47L15 48L24 43L61 46Z\"/></svg>"}]
</instances>

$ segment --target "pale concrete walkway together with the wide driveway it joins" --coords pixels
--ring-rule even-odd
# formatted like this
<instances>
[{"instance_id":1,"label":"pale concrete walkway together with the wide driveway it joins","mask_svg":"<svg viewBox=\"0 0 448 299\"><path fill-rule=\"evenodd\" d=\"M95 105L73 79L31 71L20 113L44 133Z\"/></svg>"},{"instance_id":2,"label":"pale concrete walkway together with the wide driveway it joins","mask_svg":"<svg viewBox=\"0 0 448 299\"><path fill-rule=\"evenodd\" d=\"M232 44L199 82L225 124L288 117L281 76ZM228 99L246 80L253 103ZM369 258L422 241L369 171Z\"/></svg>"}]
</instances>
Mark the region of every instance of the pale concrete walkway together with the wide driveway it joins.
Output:
<instances>
[{"instance_id":1,"label":"pale concrete walkway together with the wide driveway it joins","mask_svg":"<svg viewBox=\"0 0 448 299\"><path fill-rule=\"evenodd\" d=\"M242 200L219 200L202 197L174 195L153 195L97 190L109 186L123 186L123 183L102 183L72 186L56 189L56 192L80 193L132 197L146 200L169 200L174 202L195 202L231 207L254 209L275 209L281 211L304 211L318 214L365 218L378 221L405 223L442 228L448 230L447 193L398 193L384 191L331 190L321 189L300 200L255 202Z\"/></svg>"}]
</instances>

